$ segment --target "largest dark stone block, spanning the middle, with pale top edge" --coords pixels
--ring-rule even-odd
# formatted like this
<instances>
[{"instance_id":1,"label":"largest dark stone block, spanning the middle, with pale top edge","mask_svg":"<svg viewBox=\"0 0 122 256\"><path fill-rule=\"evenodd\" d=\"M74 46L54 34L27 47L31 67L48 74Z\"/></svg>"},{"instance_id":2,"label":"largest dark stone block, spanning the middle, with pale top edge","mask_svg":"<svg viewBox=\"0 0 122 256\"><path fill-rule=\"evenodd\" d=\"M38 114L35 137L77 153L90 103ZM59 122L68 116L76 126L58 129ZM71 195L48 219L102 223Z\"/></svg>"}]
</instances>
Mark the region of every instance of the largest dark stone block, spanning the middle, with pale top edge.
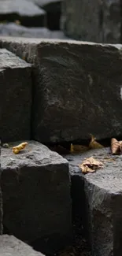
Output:
<instances>
[{"instance_id":1,"label":"largest dark stone block, spanning the middle, with pale top edge","mask_svg":"<svg viewBox=\"0 0 122 256\"><path fill-rule=\"evenodd\" d=\"M63 142L122 135L121 45L1 38L31 62L33 138Z\"/></svg>"}]
</instances>

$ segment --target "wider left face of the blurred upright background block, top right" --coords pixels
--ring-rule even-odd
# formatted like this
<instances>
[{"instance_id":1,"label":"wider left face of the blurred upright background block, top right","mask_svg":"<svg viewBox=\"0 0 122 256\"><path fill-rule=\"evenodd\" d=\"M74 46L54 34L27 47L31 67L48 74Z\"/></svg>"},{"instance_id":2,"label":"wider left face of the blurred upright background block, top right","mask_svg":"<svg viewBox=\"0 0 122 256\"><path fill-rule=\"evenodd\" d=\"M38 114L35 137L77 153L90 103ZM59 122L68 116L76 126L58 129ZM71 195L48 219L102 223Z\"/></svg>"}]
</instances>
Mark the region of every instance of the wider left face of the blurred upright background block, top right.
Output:
<instances>
[{"instance_id":1,"label":"wider left face of the blurred upright background block, top right","mask_svg":"<svg viewBox=\"0 0 122 256\"><path fill-rule=\"evenodd\" d=\"M64 0L61 29L72 39L102 42L101 1Z\"/></svg>"}]
</instances>

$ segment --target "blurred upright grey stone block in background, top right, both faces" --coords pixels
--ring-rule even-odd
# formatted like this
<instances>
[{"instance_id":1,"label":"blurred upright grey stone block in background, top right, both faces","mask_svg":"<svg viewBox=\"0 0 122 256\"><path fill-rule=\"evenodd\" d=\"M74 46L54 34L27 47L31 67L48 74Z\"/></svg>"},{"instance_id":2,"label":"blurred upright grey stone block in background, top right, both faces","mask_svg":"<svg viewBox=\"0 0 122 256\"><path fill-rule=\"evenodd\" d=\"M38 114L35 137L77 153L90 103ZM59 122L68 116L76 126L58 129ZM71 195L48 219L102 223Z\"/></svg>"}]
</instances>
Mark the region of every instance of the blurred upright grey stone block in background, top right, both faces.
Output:
<instances>
[{"instance_id":1,"label":"blurred upright grey stone block in background, top right, both faces","mask_svg":"<svg viewBox=\"0 0 122 256\"><path fill-rule=\"evenodd\" d=\"M73 39L120 43L120 0L62 2L61 29Z\"/></svg>"}]
</instances>

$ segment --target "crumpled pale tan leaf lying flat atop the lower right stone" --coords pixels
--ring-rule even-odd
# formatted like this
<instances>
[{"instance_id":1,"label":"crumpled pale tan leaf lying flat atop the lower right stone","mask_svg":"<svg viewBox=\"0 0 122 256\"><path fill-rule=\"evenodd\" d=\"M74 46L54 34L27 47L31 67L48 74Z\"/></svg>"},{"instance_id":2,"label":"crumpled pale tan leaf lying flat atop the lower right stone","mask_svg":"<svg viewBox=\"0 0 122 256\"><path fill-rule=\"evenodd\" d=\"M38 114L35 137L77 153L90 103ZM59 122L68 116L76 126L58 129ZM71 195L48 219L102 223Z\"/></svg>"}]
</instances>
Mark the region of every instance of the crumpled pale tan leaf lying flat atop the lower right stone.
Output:
<instances>
[{"instance_id":1,"label":"crumpled pale tan leaf lying flat atop the lower right stone","mask_svg":"<svg viewBox=\"0 0 122 256\"><path fill-rule=\"evenodd\" d=\"M103 167L101 161L98 161L94 158L87 158L85 159L79 168L82 170L82 173L94 173L96 169Z\"/></svg>"}]
</instances>

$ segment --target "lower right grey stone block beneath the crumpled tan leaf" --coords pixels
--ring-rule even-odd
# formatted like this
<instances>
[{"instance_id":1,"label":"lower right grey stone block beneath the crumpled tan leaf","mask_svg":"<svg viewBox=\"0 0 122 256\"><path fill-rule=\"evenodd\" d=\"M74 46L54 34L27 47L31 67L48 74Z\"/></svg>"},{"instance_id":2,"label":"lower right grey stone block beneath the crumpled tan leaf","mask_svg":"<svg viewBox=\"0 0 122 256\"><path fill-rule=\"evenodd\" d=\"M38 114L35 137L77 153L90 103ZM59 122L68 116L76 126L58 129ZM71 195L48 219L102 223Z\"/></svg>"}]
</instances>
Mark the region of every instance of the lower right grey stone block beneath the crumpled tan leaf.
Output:
<instances>
[{"instance_id":1,"label":"lower right grey stone block beneath the crumpled tan leaf","mask_svg":"<svg viewBox=\"0 0 122 256\"><path fill-rule=\"evenodd\" d=\"M78 165L84 158L103 162L96 173L83 175ZM122 155L112 156L110 148L67 155L72 180L74 217L89 237L94 256L120 256L122 251ZM89 234L89 236L88 236Z\"/></svg>"}]
</instances>

